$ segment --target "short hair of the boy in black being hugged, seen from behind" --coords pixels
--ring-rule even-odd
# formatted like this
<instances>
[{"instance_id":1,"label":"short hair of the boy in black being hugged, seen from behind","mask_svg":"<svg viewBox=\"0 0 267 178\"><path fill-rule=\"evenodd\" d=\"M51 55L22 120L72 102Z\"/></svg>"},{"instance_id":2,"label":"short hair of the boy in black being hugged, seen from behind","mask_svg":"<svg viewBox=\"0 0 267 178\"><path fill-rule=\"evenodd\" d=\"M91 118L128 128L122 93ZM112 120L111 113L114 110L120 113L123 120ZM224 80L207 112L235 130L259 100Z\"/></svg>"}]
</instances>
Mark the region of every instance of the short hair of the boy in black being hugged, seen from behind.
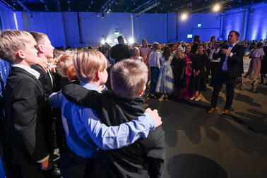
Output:
<instances>
[{"instance_id":1,"label":"short hair of the boy in black being hugged, seen from behind","mask_svg":"<svg viewBox=\"0 0 267 178\"><path fill-rule=\"evenodd\" d=\"M125 59L114 64L110 83L115 95L126 99L137 97L148 81L148 67L142 61Z\"/></svg>"}]
</instances>

